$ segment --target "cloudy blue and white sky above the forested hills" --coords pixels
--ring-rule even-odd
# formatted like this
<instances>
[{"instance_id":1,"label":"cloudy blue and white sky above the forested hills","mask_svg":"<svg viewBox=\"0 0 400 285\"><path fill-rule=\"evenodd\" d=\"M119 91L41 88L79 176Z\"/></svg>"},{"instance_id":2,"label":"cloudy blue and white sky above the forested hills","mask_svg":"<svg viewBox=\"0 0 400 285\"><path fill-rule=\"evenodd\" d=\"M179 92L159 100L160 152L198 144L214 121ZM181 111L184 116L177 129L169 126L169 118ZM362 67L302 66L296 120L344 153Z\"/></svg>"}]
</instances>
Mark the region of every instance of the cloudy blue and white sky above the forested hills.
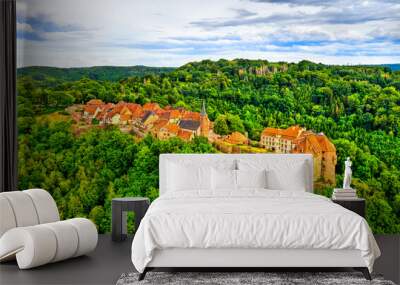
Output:
<instances>
[{"instance_id":1,"label":"cloudy blue and white sky above the forested hills","mask_svg":"<svg viewBox=\"0 0 400 285\"><path fill-rule=\"evenodd\" d=\"M18 66L400 63L400 0L17 0Z\"/></svg>"}]
</instances>

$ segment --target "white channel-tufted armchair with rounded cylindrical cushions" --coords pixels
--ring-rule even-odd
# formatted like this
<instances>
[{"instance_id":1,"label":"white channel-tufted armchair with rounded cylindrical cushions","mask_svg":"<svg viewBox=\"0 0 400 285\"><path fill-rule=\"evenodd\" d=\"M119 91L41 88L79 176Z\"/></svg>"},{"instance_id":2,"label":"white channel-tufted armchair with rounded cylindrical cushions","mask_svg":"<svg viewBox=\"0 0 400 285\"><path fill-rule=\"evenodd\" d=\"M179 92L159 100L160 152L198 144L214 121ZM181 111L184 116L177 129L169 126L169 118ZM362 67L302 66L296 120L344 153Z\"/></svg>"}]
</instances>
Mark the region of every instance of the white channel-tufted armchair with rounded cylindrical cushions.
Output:
<instances>
[{"instance_id":1,"label":"white channel-tufted armchair with rounded cylindrical cushions","mask_svg":"<svg viewBox=\"0 0 400 285\"><path fill-rule=\"evenodd\" d=\"M88 219L60 221L55 201L42 189L0 193L0 262L20 269L84 255L96 248L96 226Z\"/></svg>"}]
</instances>

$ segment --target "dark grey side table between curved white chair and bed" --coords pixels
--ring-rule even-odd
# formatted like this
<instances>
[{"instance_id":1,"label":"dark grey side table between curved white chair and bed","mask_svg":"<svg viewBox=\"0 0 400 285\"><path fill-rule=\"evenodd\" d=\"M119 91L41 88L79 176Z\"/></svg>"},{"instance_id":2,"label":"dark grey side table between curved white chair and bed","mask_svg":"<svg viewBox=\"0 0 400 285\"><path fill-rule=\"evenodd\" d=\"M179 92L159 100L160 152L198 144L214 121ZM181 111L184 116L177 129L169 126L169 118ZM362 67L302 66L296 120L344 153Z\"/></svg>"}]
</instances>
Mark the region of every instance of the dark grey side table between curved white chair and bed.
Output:
<instances>
[{"instance_id":1,"label":"dark grey side table between curved white chair and bed","mask_svg":"<svg viewBox=\"0 0 400 285\"><path fill-rule=\"evenodd\" d=\"M137 230L140 221L149 208L150 200L144 197L126 197L112 199L112 229L113 241L123 241L127 237L127 211L135 213L135 229Z\"/></svg>"}]
</instances>

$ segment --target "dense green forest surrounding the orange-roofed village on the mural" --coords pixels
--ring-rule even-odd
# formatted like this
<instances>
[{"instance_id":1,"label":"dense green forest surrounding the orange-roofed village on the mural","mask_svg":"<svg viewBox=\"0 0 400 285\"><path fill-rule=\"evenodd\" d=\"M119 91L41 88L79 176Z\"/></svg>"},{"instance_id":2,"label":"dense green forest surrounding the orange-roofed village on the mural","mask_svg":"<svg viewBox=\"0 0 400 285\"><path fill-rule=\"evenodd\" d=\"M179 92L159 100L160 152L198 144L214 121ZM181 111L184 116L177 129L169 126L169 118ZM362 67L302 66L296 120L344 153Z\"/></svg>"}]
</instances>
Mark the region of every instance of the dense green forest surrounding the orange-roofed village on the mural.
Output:
<instances>
[{"instance_id":1,"label":"dense green forest surrounding the orange-roofed village on the mural","mask_svg":"<svg viewBox=\"0 0 400 285\"><path fill-rule=\"evenodd\" d=\"M109 232L112 198L158 196L160 153L217 152L200 137L138 140L115 127L78 136L66 107L98 98L199 111L205 100L223 132L252 140L265 127L295 124L325 133L337 148L337 185L317 183L316 192L330 196L340 186L350 156L371 229L400 233L400 71L388 66L236 59L166 69L32 67L18 70L17 89L19 188L48 190L62 218L88 217Z\"/></svg>"}]
</instances>

